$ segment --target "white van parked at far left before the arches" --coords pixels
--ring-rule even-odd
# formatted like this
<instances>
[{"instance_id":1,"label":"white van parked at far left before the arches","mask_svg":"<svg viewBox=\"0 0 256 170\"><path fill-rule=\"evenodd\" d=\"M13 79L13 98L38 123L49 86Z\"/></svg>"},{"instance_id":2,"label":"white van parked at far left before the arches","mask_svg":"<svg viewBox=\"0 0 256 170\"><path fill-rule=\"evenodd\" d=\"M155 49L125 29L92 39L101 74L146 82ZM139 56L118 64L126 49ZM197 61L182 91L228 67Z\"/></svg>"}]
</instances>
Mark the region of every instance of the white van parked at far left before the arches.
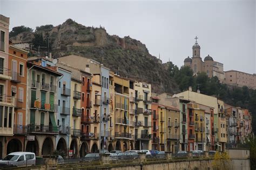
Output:
<instances>
[{"instance_id":1,"label":"white van parked at far left before the arches","mask_svg":"<svg viewBox=\"0 0 256 170\"><path fill-rule=\"evenodd\" d=\"M14 166L33 166L36 165L36 155L32 152L12 152L0 160L0 164Z\"/></svg>"}]
</instances>

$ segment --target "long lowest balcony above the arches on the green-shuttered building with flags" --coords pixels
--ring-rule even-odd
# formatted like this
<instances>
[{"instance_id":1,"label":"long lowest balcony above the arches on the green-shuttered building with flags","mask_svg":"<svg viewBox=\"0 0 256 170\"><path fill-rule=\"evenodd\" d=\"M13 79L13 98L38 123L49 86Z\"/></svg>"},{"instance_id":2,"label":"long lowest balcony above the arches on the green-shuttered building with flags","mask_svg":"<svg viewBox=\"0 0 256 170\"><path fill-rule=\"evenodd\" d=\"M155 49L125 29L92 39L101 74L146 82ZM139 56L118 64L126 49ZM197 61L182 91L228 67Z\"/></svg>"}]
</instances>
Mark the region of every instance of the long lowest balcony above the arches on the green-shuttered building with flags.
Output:
<instances>
[{"instance_id":1,"label":"long lowest balcony above the arches on the green-shuttered building with flags","mask_svg":"<svg viewBox=\"0 0 256 170\"><path fill-rule=\"evenodd\" d=\"M45 134L58 134L57 126L49 126L49 125L33 125L29 124L27 126L28 133L45 133Z\"/></svg>"}]
</instances>

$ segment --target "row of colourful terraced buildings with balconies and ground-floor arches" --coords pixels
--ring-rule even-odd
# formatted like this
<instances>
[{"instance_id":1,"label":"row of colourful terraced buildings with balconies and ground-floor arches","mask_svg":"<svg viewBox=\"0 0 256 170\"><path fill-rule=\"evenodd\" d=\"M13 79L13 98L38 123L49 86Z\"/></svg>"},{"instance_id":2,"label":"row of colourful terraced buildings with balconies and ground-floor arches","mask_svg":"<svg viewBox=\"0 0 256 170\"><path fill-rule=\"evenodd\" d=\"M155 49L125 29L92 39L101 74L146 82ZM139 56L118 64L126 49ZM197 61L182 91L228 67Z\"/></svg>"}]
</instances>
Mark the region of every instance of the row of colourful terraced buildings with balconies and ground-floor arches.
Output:
<instances>
[{"instance_id":1,"label":"row of colourful terraced buildings with balconies and ground-floor arches","mask_svg":"<svg viewBox=\"0 0 256 170\"><path fill-rule=\"evenodd\" d=\"M9 44L9 18L2 15L0 30L1 158L15 151L224 151L251 134L244 108L191 89L152 93L150 84L85 57L28 58Z\"/></svg>"}]
</instances>

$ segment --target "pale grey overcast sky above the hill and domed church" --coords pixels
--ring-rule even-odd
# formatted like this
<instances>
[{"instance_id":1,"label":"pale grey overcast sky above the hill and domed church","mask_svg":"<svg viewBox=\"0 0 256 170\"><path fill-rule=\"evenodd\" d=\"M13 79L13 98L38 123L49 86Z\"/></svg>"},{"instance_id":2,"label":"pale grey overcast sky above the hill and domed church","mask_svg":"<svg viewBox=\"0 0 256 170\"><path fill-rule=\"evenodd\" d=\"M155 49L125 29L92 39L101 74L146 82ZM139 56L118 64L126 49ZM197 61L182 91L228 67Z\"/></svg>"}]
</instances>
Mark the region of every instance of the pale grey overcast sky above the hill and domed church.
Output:
<instances>
[{"instance_id":1,"label":"pale grey overcast sky above the hill and domed church","mask_svg":"<svg viewBox=\"0 0 256 170\"><path fill-rule=\"evenodd\" d=\"M103 25L110 35L146 44L163 62L183 65L198 36L201 57L208 54L224 70L256 73L256 3L244 1L6 1L0 13L19 25L59 25L71 18Z\"/></svg>"}]
</instances>

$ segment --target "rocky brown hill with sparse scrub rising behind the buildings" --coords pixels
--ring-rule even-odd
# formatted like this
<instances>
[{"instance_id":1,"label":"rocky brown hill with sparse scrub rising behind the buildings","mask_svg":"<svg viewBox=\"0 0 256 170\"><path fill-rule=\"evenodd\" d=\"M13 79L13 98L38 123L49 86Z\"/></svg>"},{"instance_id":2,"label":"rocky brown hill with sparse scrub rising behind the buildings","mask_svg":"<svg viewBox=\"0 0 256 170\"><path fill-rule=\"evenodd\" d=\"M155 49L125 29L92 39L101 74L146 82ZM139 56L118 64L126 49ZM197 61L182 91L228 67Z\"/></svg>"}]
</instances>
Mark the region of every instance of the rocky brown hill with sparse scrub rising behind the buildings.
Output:
<instances>
[{"instance_id":1,"label":"rocky brown hill with sparse scrub rising behind the buildings","mask_svg":"<svg viewBox=\"0 0 256 170\"><path fill-rule=\"evenodd\" d=\"M178 91L177 84L168 77L161 60L150 55L145 44L139 40L129 36L111 36L102 27L84 26L72 19L41 32L44 38L46 35L55 37L51 45L53 58L71 54L92 58L119 72L120 76L151 83L153 92ZM35 33L41 32L23 32L10 39L15 43L31 42Z\"/></svg>"}]
</instances>

